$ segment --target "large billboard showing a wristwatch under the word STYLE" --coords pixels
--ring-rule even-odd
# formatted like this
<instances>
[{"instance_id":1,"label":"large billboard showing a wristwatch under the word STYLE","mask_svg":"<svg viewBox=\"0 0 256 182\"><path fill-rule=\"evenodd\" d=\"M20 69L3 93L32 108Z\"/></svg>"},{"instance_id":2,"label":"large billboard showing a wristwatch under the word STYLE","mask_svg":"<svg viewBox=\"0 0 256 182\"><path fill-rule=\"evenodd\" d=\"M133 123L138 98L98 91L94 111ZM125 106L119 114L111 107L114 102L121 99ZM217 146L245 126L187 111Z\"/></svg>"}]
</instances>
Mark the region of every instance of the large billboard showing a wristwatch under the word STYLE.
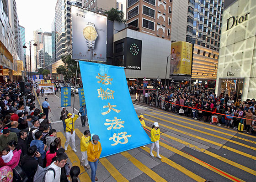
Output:
<instances>
[{"instance_id":1,"label":"large billboard showing a wristwatch under the word STYLE","mask_svg":"<svg viewBox=\"0 0 256 182\"><path fill-rule=\"evenodd\" d=\"M106 62L107 16L77 6L71 6L71 14L72 59Z\"/></svg>"}]
</instances>

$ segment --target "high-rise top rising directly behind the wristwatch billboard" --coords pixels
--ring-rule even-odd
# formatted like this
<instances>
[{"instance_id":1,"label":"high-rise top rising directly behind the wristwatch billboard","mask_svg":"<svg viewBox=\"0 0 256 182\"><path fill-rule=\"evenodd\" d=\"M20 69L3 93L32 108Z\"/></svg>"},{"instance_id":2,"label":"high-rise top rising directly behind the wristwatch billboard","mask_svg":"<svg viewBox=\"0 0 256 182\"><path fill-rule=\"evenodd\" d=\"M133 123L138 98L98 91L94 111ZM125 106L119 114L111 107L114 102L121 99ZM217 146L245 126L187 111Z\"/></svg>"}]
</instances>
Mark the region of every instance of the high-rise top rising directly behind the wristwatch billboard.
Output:
<instances>
[{"instance_id":1,"label":"high-rise top rising directly behind the wristwatch billboard","mask_svg":"<svg viewBox=\"0 0 256 182\"><path fill-rule=\"evenodd\" d=\"M102 13L111 8L116 8L116 2L116 0L83 0L82 5L87 10Z\"/></svg>"}]
</instances>

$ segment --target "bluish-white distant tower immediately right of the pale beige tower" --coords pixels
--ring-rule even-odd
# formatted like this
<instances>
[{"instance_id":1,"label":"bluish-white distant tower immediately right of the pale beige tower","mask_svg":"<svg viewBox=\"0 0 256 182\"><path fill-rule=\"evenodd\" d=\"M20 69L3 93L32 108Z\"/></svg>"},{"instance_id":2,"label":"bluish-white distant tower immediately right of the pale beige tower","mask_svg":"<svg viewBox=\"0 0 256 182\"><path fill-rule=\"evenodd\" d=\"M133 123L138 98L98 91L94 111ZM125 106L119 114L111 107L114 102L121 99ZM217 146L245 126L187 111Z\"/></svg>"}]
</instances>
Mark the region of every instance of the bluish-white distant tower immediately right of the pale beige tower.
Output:
<instances>
[{"instance_id":1,"label":"bluish-white distant tower immediately right of the pale beige tower","mask_svg":"<svg viewBox=\"0 0 256 182\"><path fill-rule=\"evenodd\" d=\"M44 32L43 39L44 66L49 66L53 63L52 33Z\"/></svg>"}]
</instances>

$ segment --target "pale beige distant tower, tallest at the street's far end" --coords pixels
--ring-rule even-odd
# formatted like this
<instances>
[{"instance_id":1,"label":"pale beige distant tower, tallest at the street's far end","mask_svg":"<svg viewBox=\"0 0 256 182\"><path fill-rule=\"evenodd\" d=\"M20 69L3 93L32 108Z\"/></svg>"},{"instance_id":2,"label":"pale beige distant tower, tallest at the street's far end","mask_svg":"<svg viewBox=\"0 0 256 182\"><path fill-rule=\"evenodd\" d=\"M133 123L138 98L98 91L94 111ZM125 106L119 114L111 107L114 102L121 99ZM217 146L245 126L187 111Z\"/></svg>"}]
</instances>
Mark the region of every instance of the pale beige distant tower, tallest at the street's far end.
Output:
<instances>
[{"instance_id":1,"label":"pale beige distant tower, tallest at the street's far end","mask_svg":"<svg viewBox=\"0 0 256 182\"><path fill-rule=\"evenodd\" d=\"M44 63L42 62L42 56L39 57L40 51L43 51L43 37L44 33L42 29L34 31L34 40L36 41L37 46L34 48L34 55L35 55L35 67L31 68L32 71L37 71L38 68L41 68L44 66Z\"/></svg>"}]
</instances>

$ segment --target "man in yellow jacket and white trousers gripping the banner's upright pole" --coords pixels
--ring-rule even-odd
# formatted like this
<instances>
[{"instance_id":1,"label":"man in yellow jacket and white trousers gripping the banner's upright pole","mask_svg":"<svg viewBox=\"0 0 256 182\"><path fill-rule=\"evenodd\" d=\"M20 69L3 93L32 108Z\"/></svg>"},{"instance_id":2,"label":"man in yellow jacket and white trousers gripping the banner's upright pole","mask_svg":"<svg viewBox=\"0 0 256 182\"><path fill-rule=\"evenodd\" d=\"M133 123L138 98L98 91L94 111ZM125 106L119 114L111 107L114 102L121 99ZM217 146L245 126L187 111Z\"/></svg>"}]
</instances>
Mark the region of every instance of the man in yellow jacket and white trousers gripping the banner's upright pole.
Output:
<instances>
[{"instance_id":1,"label":"man in yellow jacket and white trousers gripping the banner's upright pole","mask_svg":"<svg viewBox=\"0 0 256 182\"><path fill-rule=\"evenodd\" d=\"M75 120L78 117L79 116L74 114L74 113L73 114L69 113L68 118L65 119L65 124L66 124L66 142L65 142L65 145L64 145L65 151L67 150L68 145L69 145L69 141L71 139L70 147L72 148L72 150L74 152L77 152L75 150L75 131L74 131L74 129L75 129Z\"/></svg>"}]
</instances>

